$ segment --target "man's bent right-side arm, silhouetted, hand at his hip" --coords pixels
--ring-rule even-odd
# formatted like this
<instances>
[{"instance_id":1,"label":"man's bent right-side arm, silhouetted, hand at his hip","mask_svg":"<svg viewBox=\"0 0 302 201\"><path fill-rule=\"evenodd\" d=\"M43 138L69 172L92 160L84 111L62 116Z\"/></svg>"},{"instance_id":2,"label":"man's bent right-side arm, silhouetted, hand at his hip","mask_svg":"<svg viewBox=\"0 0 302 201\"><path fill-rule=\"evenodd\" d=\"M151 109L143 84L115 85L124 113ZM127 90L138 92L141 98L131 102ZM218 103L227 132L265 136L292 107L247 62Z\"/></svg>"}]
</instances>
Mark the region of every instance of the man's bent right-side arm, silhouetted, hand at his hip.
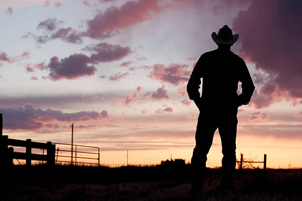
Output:
<instances>
[{"instance_id":1,"label":"man's bent right-side arm, silhouetted, hand at his hip","mask_svg":"<svg viewBox=\"0 0 302 201\"><path fill-rule=\"evenodd\" d=\"M239 81L242 83L241 84L242 93L239 95L239 106L243 104L244 105L248 104L255 90L255 86L253 84L253 80L251 78L249 70L242 59L241 59L240 68L241 71L240 71Z\"/></svg>"}]
</instances>

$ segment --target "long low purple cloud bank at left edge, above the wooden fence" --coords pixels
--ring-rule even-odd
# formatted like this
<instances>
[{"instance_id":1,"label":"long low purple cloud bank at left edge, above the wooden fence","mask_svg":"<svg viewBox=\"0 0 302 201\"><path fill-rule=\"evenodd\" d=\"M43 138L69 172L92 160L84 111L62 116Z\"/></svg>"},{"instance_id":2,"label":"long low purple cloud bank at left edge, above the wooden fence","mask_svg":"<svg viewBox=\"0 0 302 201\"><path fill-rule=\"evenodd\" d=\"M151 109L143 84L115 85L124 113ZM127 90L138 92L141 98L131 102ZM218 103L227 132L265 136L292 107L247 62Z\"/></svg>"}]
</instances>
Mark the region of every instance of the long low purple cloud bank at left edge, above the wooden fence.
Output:
<instances>
[{"instance_id":1,"label":"long low purple cloud bank at left edge, above the wooden fence","mask_svg":"<svg viewBox=\"0 0 302 201\"><path fill-rule=\"evenodd\" d=\"M18 108L0 108L3 114L3 128L9 130L37 130L44 123L49 126L49 121L75 122L88 120L101 120L108 118L106 110L102 112L81 111L74 113L63 113L60 110L35 109L32 105ZM47 126L46 126L47 127Z\"/></svg>"}]
</instances>

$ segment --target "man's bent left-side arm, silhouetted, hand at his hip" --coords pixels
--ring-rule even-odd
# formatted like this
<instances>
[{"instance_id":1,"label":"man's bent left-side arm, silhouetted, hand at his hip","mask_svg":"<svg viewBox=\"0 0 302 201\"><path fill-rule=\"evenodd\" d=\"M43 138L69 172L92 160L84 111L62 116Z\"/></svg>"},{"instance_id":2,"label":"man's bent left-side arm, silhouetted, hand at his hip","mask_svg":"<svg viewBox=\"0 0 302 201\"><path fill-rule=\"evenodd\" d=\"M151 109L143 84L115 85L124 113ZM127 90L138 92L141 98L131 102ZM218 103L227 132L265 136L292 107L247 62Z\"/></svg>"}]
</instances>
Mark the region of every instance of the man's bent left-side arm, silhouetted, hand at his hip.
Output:
<instances>
[{"instance_id":1,"label":"man's bent left-side arm, silhouetted, hand at his hip","mask_svg":"<svg viewBox=\"0 0 302 201\"><path fill-rule=\"evenodd\" d=\"M196 106L199 108L200 107L200 93L199 93L199 88L200 88L200 78L202 77L202 73L201 73L201 63L202 63L202 55L199 58L199 60L197 61L189 82L187 84L187 92L189 95L189 99L190 100L194 100Z\"/></svg>"}]
</instances>

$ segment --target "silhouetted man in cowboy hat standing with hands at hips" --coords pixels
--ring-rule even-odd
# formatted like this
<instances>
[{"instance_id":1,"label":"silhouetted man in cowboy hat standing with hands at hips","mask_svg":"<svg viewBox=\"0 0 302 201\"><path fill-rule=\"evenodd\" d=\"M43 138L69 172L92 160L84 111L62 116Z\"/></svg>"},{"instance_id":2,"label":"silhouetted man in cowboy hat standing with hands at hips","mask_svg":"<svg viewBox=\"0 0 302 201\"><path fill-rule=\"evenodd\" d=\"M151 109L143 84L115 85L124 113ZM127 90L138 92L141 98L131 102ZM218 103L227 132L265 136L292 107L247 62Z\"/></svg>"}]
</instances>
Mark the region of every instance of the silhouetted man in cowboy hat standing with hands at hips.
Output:
<instances>
[{"instance_id":1,"label":"silhouetted man in cowboy hat standing with hands at hips","mask_svg":"<svg viewBox=\"0 0 302 201\"><path fill-rule=\"evenodd\" d=\"M207 154L218 128L222 143L222 178L219 190L232 190L234 169L236 167L236 131L238 107L248 104L255 86L245 62L232 51L232 46L239 35L225 25L212 38L218 49L202 54L190 76L187 92L199 109L195 133L196 146L191 159L191 193L202 190ZM202 78L202 96L199 88ZM238 96L238 82L242 93Z\"/></svg>"}]
</instances>

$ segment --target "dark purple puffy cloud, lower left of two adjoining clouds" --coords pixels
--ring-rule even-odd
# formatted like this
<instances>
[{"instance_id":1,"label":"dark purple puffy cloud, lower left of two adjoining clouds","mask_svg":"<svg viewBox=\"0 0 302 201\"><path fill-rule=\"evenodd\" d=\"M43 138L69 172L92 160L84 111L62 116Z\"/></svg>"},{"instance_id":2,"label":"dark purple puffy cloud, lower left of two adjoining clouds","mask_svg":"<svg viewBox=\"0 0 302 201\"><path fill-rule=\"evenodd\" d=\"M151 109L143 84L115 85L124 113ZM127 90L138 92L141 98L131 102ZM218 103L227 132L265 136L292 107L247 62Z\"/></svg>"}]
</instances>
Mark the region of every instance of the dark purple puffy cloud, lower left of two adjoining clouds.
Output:
<instances>
[{"instance_id":1,"label":"dark purple puffy cloud, lower left of two adjoining clouds","mask_svg":"<svg viewBox=\"0 0 302 201\"><path fill-rule=\"evenodd\" d=\"M58 57L50 59L46 69L49 69L51 80L76 79L82 76L94 75L96 68L88 66L90 58L83 54L73 54L59 60Z\"/></svg>"}]
</instances>

